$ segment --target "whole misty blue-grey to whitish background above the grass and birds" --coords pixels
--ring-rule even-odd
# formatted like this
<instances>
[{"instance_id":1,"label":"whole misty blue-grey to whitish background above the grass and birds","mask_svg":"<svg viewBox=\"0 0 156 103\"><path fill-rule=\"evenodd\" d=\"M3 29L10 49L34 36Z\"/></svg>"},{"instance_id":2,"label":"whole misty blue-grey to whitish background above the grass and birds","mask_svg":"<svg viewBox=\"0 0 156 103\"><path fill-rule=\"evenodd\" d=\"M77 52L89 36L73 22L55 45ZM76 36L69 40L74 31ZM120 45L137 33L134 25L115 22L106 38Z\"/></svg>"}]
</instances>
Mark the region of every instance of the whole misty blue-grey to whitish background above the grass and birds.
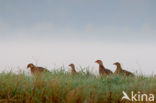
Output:
<instances>
[{"instance_id":1,"label":"whole misty blue-grey to whitish background above the grass and birds","mask_svg":"<svg viewBox=\"0 0 156 103\"><path fill-rule=\"evenodd\" d=\"M0 0L0 71L74 63L154 74L155 0Z\"/></svg>"}]
</instances>

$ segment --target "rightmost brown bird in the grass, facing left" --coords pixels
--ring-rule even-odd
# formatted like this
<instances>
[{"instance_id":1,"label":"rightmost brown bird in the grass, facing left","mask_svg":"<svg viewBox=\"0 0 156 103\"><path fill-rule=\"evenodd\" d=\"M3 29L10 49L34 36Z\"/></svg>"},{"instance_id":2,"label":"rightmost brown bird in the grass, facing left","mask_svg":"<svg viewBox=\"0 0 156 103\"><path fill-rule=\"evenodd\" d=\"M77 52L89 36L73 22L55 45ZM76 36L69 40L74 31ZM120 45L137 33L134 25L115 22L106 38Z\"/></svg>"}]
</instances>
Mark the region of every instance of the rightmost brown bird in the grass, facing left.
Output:
<instances>
[{"instance_id":1,"label":"rightmost brown bird in the grass, facing left","mask_svg":"<svg viewBox=\"0 0 156 103\"><path fill-rule=\"evenodd\" d=\"M123 70L122 67L121 67L121 64L119 62L116 62L114 63L114 65L117 66L114 74L122 74L122 75L125 75L125 76L134 76L133 73L129 72L129 71L126 71L126 70Z\"/></svg>"}]
</instances>

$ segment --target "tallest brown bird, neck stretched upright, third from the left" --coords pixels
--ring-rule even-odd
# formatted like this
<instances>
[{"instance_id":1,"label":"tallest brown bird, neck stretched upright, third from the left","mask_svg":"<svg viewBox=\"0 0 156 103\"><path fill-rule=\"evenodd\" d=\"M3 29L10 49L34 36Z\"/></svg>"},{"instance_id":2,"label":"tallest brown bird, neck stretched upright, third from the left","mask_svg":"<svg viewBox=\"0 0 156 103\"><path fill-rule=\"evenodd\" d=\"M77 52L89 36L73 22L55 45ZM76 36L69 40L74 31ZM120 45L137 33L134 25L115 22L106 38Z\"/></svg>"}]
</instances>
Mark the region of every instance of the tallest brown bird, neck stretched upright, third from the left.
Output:
<instances>
[{"instance_id":1,"label":"tallest brown bird, neck stretched upright, third from the left","mask_svg":"<svg viewBox=\"0 0 156 103\"><path fill-rule=\"evenodd\" d=\"M111 70L104 67L103 62L101 60L97 60L95 62L99 64L99 74L100 75L107 76L107 75L113 74L113 72Z\"/></svg>"}]
</instances>

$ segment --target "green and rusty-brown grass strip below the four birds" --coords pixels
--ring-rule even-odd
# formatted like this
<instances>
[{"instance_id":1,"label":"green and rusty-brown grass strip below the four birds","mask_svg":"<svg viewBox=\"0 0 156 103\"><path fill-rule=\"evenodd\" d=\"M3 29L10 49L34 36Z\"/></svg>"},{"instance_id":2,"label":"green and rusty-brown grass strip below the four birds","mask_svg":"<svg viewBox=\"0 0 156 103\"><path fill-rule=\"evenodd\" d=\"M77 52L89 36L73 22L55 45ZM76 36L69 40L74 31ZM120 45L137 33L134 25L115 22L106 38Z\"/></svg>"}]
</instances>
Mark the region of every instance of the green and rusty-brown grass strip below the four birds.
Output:
<instances>
[{"instance_id":1,"label":"green and rusty-brown grass strip below the four birds","mask_svg":"<svg viewBox=\"0 0 156 103\"><path fill-rule=\"evenodd\" d=\"M101 77L64 71L40 76L0 74L0 103L131 103L121 101L122 91L156 94L156 77Z\"/></svg>"}]
</instances>

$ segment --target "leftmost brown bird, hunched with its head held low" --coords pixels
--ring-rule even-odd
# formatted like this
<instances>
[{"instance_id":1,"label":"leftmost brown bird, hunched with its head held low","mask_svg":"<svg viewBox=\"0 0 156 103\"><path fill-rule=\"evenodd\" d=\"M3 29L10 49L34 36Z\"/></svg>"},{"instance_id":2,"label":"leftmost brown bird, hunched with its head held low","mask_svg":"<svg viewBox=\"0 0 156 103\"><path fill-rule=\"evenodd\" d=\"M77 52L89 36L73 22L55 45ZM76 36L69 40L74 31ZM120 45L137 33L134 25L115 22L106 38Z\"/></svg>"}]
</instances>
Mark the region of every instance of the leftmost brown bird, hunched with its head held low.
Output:
<instances>
[{"instance_id":1,"label":"leftmost brown bird, hunched with its head held low","mask_svg":"<svg viewBox=\"0 0 156 103\"><path fill-rule=\"evenodd\" d=\"M46 68L43 67L37 67L34 64L30 63L27 65L27 68L30 68L31 73L34 74L38 74L38 73L42 73L42 72L49 72Z\"/></svg>"}]
</instances>

